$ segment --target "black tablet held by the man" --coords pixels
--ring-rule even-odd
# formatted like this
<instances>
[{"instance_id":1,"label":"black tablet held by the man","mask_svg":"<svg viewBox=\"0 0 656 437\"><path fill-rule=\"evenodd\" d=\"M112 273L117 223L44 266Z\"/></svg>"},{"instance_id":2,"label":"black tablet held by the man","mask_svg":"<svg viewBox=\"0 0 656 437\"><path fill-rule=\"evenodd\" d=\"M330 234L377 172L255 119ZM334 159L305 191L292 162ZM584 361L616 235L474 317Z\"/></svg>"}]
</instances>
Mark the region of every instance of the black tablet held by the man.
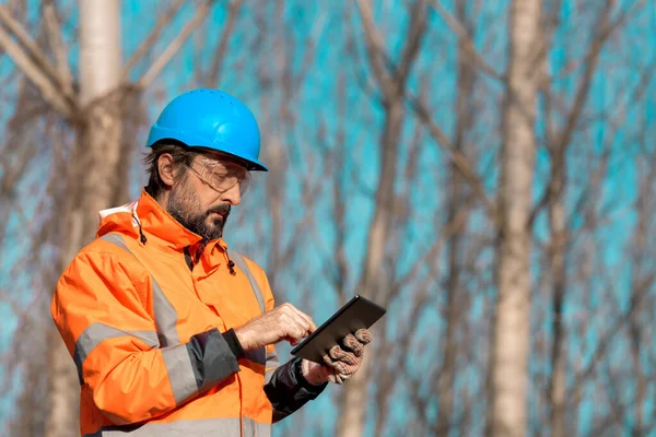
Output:
<instances>
[{"instance_id":1,"label":"black tablet held by the man","mask_svg":"<svg viewBox=\"0 0 656 437\"><path fill-rule=\"evenodd\" d=\"M292 355L324 364L324 355L344 336L370 328L387 310L356 295L291 352Z\"/></svg>"}]
</instances>

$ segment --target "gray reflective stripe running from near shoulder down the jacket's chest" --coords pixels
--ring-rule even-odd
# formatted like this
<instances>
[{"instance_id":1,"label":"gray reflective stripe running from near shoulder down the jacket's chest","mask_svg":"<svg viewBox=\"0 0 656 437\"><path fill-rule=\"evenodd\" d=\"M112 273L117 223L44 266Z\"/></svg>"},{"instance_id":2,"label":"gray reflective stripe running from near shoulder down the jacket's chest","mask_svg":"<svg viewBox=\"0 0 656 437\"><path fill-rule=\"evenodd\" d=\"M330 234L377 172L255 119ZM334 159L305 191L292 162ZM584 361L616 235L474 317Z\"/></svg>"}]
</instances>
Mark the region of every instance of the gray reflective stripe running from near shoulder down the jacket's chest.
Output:
<instances>
[{"instance_id":1,"label":"gray reflective stripe running from near shoulder down the jacket's chest","mask_svg":"<svg viewBox=\"0 0 656 437\"><path fill-rule=\"evenodd\" d=\"M105 234L101 237L105 241L113 243L127 252L131 253L137 261L139 258L128 248L126 241L120 234ZM139 261L141 262L141 261ZM148 269L147 269L148 270ZM149 272L150 274L150 272ZM155 318L155 327L157 328L157 338L162 347L175 346L180 344L180 339L175 328L177 323L177 312L175 308L160 287L160 284L151 274L152 287L153 287L153 312Z\"/></svg>"}]
</instances>

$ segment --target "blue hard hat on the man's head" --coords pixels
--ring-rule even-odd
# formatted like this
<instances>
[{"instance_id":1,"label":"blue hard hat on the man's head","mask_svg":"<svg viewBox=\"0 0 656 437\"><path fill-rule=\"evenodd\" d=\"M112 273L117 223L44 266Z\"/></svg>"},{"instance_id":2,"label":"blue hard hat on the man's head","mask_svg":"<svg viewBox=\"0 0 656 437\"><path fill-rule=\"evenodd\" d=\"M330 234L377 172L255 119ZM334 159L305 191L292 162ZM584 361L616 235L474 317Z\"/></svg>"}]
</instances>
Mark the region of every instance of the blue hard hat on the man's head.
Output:
<instances>
[{"instance_id":1,"label":"blue hard hat on the man's head","mask_svg":"<svg viewBox=\"0 0 656 437\"><path fill-rule=\"evenodd\" d=\"M253 113L219 90L194 90L171 101L151 128L147 145L166 140L223 152L246 161L251 170L268 172L258 161L260 134Z\"/></svg>"}]
</instances>

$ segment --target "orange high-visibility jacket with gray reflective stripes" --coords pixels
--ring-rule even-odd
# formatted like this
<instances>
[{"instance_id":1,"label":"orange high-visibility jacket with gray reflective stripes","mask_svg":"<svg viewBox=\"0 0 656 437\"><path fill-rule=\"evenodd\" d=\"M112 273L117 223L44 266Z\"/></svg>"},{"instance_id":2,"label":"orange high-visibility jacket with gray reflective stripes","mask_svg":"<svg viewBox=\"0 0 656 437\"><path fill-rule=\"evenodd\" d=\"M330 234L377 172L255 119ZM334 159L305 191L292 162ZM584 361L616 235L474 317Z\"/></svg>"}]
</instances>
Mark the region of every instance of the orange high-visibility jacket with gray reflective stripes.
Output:
<instances>
[{"instance_id":1,"label":"orange high-visibility jacket with gray reflective stripes","mask_svg":"<svg viewBox=\"0 0 656 437\"><path fill-rule=\"evenodd\" d=\"M101 213L51 314L78 367L83 436L268 436L325 388L243 352L232 328L274 306L263 271L202 241L145 191Z\"/></svg>"}]
</instances>

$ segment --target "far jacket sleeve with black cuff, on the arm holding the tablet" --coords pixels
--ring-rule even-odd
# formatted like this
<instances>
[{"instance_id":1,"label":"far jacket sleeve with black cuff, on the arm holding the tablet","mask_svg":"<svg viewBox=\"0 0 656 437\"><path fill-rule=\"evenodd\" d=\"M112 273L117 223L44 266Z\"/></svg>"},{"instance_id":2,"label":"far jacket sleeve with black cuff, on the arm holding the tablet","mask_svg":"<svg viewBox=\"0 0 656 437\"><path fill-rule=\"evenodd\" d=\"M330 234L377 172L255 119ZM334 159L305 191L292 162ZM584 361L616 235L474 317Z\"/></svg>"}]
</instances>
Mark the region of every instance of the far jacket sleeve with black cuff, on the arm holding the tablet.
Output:
<instances>
[{"instance_id":1,"label":"far jacket sleeve with black cuff, on the arm holding the tablet","mask_svg":"<svg viewBox=\"0 0 656 437\"><path fill-rule=\"evenodd\" d=\"M276 307L273 294L263 271L260 269L259 272L258 283L261 284L266 307L270 311ZM273 408L273 422L283 420L308 401L316 399L327 385L313 386L307 382L301 373L300 358L293 358L280 366L276 347L267 346L265 392Z\"/></svg>"}]
</instances>

